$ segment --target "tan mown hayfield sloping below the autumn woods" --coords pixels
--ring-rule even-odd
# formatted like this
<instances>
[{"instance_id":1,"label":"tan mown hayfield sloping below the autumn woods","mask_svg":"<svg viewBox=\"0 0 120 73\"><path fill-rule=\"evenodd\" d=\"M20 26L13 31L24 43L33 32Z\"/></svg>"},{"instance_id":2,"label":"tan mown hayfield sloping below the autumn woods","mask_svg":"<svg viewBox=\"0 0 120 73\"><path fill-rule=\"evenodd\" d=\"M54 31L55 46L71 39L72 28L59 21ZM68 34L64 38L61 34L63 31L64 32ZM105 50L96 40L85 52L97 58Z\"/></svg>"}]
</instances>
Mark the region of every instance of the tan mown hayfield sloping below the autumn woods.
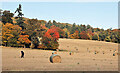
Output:
<instances>
[{"instance_id":1,"label":"tan mown hayfield sloping below the autumn woods","mask_svg":"<svg viewBox=\"0 0 120 73\"><path fill-rule=\"evenodd\" d=\"M51 50L2 47L3 71L118 71L118 44L59 39L61 63L50 63ZM20 58L24 50L25 58ZM65 50L65 51L63 51ZM69 55L70 52L73 55ZM96 51L96 54L95 54ZM116 55L113 56L113 53Z\"/></svg>"}]
</instances>

